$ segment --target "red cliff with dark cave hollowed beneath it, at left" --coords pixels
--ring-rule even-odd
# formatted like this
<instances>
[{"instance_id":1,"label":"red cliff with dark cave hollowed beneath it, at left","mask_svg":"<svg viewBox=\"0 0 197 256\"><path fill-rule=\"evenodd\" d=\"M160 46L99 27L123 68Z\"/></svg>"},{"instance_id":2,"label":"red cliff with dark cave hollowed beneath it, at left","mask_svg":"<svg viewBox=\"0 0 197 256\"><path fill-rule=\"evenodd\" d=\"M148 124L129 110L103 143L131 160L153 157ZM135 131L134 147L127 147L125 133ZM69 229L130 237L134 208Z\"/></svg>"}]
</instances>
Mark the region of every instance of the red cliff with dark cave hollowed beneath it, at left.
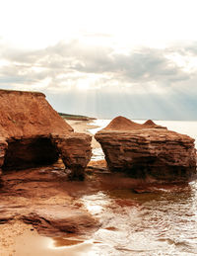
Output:
<instances>
[{"instance_id":1,"label":"red cliff with dark cave hollowed beneath it, at left","mask_svg":"<svg viewBox=\"0 0 197 256\"><path fill-rule=\"evenodd\" d=\"M91 158L91 136L77 133L42 93L0 90L0 169L24 169L62 158L83 177Z\"/></svg>"}]
</instances>

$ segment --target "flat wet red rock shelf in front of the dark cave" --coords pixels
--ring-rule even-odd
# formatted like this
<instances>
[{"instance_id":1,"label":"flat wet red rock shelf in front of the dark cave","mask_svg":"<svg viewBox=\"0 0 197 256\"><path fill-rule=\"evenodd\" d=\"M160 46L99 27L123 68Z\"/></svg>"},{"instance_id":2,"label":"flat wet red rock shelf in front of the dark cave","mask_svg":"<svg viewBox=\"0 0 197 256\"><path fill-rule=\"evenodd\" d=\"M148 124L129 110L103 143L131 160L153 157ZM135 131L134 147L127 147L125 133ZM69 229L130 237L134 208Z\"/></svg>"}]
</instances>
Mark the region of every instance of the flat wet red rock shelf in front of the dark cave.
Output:
<instances>
[{"instance_id":1,"label":"flat wet red rock shelf in front of the dark cave","mask_svg":"<svg viewBox=\"0 0 197 256\"><path fill-rule=\"evenodd\" d=\"M51 237L86 237L99 228L98 219L78 201L81 191L85 193L87 189L86 181L66 181L64 170L55 170L55 166L7 172L2 176L0 225L21 220L32 224L40 235Z\"/></svg>"}]
</instances>

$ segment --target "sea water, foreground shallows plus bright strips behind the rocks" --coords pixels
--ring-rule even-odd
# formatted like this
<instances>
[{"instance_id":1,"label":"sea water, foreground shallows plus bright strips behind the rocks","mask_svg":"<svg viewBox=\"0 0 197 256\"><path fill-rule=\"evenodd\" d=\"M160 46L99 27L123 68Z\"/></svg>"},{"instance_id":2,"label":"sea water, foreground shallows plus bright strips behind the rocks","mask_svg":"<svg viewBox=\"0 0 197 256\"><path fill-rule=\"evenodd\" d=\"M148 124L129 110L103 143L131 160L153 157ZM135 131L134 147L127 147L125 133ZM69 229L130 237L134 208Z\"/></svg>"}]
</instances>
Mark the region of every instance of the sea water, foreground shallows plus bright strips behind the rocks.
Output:
<instances>
[{"instance_id":1,"label":"sea water, foreground shallows plus bright strips behind the rocks","mask_svg":"<svg viewBox=\"0 0 197 256\"><path fill-rule=\"evenodd\" d=\"M110 120L96 120L94 134ZM145 121L135 121L144 123ZM197 138L197 122L156 121L157 125ZM96 159L103 157L97 152ZM111 180L111 184L113 181ZM87 255L197 255L197 182L136 194L117 186L82 198L101 227ZM91 244L91 241L90 241Z\"/></svg>"}]
</instances>

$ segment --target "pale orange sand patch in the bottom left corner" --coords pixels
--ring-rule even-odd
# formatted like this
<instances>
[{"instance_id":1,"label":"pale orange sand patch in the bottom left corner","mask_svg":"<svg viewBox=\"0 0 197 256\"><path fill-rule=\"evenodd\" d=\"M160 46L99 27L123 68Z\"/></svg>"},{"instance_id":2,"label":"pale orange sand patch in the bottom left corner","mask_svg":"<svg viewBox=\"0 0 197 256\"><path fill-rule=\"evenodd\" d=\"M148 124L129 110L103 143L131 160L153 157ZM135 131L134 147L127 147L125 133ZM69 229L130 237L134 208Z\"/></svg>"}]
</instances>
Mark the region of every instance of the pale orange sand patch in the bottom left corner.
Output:
<instances>
[{"instance_id":1,"label":"pale orange sand patch in the bottom left corner","mask_svg":"<svg viewBox=\"0 0 197 256\"><path fill-rule=\"evenodd\" d=\"M31 225L23 222L4 225L1 228L1 256L81 256L92 246L81 240L44 237L31 231ZM66 247L66 248L65 248Z\"/></svg>"}]
</instances>

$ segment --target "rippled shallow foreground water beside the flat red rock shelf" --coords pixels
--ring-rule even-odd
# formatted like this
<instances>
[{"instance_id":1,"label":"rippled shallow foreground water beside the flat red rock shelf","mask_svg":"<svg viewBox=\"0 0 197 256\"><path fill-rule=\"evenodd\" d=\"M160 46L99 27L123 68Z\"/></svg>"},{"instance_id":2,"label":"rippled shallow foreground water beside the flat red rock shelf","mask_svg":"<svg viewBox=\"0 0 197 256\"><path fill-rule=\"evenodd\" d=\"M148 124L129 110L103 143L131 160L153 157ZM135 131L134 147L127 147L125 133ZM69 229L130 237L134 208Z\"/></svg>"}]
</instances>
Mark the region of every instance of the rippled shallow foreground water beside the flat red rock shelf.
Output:
<instances>
[{"instance_id":1,"label":"rippled shallow foreground water beside the flat red rock shelf","mask_svg":"<svg viewBox=\"0 0 197 256\"><path fill-rule=\"evenodd\" d=\"M88 240L34 237L17 255L197 255L196 182L141 194L128 186L108 185L80 201L100 221Z\"/></svg>"}]
</instances>

